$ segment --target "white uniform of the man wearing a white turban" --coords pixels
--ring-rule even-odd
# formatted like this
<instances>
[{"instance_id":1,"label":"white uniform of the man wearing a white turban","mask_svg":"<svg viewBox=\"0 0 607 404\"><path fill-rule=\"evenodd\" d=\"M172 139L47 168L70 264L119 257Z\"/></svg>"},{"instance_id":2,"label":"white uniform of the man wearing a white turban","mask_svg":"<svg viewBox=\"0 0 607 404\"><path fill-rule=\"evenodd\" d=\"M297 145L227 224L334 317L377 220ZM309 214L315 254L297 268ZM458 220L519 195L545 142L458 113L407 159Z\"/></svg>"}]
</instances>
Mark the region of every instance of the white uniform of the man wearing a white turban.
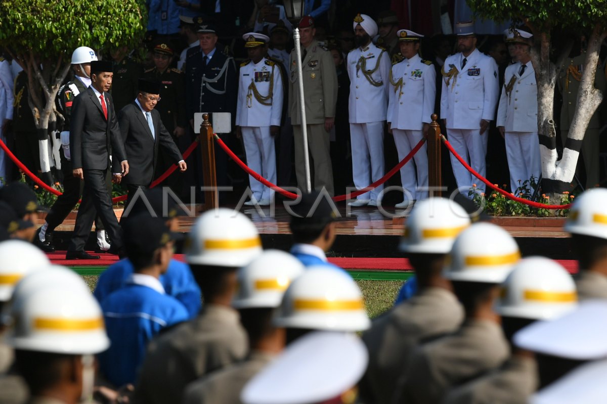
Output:
<instances>
[{"instance_id":1,"label":"white uniform of the man wearing a white turban","mask_svg":"<svg viewBox=\"0 0 607 404\"><path fill-rule=\"evenodd\" d=\"M361 56L374 86L360 69ZM379 66L378 66L379 64ZM357 71L357 66L359 67ZM379 180L384 175L384 121L388 110L390 91L390 56L372 42L364 49L356 48L348 53L348 76L350 76L350 141L352 147L352 173L354 186L361 189ZM370 192L359 195L359 200L380 199L383 184Z\"/></svg>"}]
</instances>

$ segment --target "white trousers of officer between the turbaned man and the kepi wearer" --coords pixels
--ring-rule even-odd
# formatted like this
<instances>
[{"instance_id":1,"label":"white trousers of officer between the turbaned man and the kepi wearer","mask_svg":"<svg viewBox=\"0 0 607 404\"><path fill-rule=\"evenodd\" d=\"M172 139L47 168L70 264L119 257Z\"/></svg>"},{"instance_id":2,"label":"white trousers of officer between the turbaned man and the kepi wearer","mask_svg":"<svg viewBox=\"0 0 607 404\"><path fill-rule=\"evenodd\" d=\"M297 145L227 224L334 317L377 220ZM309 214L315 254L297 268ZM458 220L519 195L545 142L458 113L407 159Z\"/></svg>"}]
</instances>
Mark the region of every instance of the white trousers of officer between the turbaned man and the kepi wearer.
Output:
<instances>
[{"instance_id":1,"label":"white trousers of officer between the turbaned man and the kepi wearer","mask_svg":"<svg viewBox=\"0 0 607 404\"><path fill-rule=\"evenodd\" d=\"M392 129L396 151L398 151L398 161L405 158L413 147L417 146L424 137L421 130ZM428 198L427 190L418 190L418 187L428 186L428 145L424 145L413 156L409 163L401 168L402 187L410 192L415 200L424 200ZM405 200L409 196L405 193Z\"/></svg>"}]
</instances>

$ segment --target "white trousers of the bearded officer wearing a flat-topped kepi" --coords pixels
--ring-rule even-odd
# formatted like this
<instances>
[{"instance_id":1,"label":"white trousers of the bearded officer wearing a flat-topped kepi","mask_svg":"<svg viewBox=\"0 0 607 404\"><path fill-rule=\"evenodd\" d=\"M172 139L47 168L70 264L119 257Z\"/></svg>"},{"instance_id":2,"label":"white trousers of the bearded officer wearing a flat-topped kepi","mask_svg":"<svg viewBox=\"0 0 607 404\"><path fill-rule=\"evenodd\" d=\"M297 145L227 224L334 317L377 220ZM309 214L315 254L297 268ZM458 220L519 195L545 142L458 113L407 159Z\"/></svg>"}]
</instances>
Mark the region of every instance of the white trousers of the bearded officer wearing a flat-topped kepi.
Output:
<instances>
[{"instance_id":1,"label":"white trousers of the bearded officer wearing a flat-topped kepi","mask_svg":"<svg viewBox=\"0 0 607 404\"><path fill-rule=\"evenodd\" d=\"M489 128L485 133L480 134L480 129L447 129L447 138L453 149L483 177L486 177L487 166L485 157L487 155L487 136L489 136ZM478 180L466 167L449 153L451 165L453 167L453 175L455 182L459 188L459 192L468 196L468 190L472 184L476 184L477 192L485 192L485 184Z\"/></svg>"}]
</instances>

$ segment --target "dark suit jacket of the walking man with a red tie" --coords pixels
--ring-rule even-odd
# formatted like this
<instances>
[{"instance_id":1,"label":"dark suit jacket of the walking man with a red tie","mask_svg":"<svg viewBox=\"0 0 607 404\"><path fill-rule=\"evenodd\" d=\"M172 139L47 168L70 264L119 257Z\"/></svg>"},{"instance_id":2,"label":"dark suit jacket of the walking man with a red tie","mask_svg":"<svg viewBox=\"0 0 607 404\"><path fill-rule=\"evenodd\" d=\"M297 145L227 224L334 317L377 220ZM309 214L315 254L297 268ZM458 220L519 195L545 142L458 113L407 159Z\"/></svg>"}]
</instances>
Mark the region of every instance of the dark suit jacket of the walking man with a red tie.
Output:
<instances>
[{"instance_id":1,"label":"dark suit jacket of the walking man with a red tie","mask_svg":"<svg viewBox=\"0 0 607 404\"><path fill-rule=\"evenodd\" d=\"M107 121L92 87L78 94L73 101L70 154L75 169L109 169L111 154L114 161L112 172L121 172L120 162L126 160L112 96L109 93L103 93L103 96L107 106Z\"/></svg>"}]
</instances>

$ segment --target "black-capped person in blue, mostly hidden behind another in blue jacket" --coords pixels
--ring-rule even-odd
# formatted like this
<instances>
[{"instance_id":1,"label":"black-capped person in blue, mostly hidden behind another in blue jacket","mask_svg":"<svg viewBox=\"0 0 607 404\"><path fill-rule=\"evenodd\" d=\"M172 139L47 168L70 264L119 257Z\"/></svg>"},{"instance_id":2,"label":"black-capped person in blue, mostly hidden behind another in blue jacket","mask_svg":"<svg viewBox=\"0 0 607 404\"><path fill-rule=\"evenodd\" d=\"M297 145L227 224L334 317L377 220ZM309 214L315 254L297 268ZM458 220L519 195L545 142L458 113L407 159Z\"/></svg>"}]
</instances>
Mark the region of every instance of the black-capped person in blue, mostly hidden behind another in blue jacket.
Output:
<instances>
[{"instance_id":1,"label":"black-capped person in blue, mostly hidden behind another in blue jacket","mask_svg":"<svg viewBox=\"0 0 607 404\"><path fill-rule=\"evenodd\" d=\"M131 212L128 215L137 215L142 211L148 212L144 198L151 206L152 211L158 217L163 217L163 195L160 189L146 190L143 197L135 198L132 202ZM164 219L169 229L176 231L178 227L177 208L171 198L168 199L168 203ZM112 264L103 271L103 274L101 274L97 281L97 288L93 292L97 301L103 303L103 300L112 292L123 288L132 274L133 264L128 258ZM176 298L185 306L189 318L193 318L198 314L202 298L200 296L200 288L198 288L198 284L194 280L188 264L171 259L166 273L160 276L160 283L168 295Z\"/></svg>"}]
</instances>

